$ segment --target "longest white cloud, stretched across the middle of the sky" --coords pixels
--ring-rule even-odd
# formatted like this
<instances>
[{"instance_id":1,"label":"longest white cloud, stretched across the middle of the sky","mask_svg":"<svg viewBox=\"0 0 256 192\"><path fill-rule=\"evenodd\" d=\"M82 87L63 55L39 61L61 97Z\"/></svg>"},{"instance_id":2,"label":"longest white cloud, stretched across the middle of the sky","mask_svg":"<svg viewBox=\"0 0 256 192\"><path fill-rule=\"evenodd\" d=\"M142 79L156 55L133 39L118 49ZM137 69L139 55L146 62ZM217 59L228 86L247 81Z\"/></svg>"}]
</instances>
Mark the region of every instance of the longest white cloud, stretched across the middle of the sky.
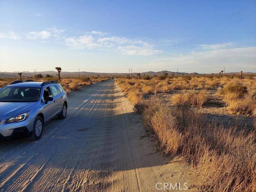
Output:
<instances>
[{"instance_id":1,"label":"longest white cloud, stretched across the middle of the sky","mask_svg":"<svg viewBox=\"0 0 256 192\"><path fill-rule=\"evenodd\" d=\"M105 36L105 37L98 37ZM72 49L113 49L127 55L148 56L161 52L154 44L140 39L131 39L122 36L106 36L103 32L90 32L90 35L65 38L66 45Z\"/></svg>"}]
</instances>

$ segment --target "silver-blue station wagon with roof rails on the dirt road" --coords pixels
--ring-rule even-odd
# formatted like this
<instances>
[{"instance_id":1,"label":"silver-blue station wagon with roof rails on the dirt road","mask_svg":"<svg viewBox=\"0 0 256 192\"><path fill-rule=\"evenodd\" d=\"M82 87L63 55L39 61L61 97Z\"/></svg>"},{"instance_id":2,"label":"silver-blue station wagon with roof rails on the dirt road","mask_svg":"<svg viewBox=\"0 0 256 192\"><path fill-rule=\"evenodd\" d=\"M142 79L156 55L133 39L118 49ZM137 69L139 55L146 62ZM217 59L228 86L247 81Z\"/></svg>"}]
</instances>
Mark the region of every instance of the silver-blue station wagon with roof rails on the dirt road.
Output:
<instances>
[{"instance_id":1,"label":"silver-blue station wagon with roof rails on the dirt road","mask_svg":"<svg viewBox=\"0 0 256 192\"><path fill-rule=\"evenodd\" d=\"M67 94L58 82L14 81L0 89L0 138L42 136L45 122L66 118Z\"/></svg>"}]
</instances>

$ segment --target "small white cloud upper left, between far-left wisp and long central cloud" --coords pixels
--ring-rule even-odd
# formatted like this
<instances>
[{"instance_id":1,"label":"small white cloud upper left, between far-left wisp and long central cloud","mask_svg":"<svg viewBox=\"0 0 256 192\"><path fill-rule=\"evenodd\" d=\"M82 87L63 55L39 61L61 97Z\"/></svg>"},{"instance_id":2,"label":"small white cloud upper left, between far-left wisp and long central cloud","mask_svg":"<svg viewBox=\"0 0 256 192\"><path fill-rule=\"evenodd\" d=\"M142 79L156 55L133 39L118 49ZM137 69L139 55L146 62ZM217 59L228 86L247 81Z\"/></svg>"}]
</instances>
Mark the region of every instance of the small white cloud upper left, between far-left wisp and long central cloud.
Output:
<instances>
[{"instance_id":1,"label":"small white cloud upper left, between far-left wisp and long central cloud","mask_svg":"<svg viewBox=\"0 0 256 192\"><path fill-rule=\"evenodd\" d=\"M28 39L48 39L50 37L59 38L60 34L65 30L60 30L57 28L49 28L43 31L35 31L26 33L26 38Z\"/></svg>"}]
</instances>

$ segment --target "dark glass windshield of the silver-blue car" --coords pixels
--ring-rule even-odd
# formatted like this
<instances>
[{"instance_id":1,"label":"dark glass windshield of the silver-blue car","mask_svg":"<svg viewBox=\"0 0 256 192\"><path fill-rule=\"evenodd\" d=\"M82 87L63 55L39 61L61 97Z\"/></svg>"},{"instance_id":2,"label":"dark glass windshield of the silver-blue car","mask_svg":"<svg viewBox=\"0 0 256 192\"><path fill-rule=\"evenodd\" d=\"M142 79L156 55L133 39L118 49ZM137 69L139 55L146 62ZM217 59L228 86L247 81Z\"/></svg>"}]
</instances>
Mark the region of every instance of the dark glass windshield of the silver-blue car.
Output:
<instances>
[{"instance_id":1,"label":"dark glass windshield of the silver-blue car","mask_svg":"<svg viewBox=\"0 0 256 192\"><path fill-rule=\"evenodd\" d=\"M0 89L0 102L36 102L40 88L7 86Z\"/></svg>"}]
</instances>

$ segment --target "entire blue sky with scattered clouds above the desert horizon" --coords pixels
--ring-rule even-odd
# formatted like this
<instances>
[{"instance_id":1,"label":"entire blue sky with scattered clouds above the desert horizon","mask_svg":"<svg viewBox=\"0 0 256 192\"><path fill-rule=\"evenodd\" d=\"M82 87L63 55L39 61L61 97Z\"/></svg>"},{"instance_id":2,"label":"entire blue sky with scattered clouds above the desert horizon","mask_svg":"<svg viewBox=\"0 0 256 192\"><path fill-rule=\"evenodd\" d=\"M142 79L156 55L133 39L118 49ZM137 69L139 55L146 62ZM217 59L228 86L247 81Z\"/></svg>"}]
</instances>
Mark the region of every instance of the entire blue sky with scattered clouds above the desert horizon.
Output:
<instances>
[{"instance_id":1,"label":"entire blue sky with scattered clouds above the desert horizon","mask_svg":"<svg viewBox=\"0 0 256 192\"><path fill-rule=\"evenodd\" d=\"M0 71L256 72L256 1L0 0Z\"/></svg>"}]
</instances>

